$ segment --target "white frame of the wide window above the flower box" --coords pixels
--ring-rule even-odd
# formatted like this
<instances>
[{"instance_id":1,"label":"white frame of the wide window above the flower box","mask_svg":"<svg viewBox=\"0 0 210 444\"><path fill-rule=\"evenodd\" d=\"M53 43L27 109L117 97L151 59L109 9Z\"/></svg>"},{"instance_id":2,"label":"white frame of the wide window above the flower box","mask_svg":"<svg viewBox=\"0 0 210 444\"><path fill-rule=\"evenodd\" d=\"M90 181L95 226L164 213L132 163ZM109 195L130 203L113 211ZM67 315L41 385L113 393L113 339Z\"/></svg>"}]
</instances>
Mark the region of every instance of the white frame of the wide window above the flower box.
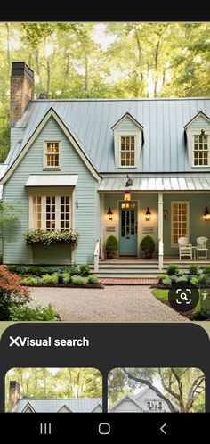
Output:
<instances>
[{"instance_id":1,"label":"white frame of the wide window above the flower box","mask_svg":"<svg viewBox=\"0 0 210 444\"><path fill-rule=\"evenodd\" d=\"M65 230L73 227L73 209L72 209L72 191L65 189L54 189L52 187L44 190L38 190L37 188L34 190L30 190L28 196L28 227L29 229L36 229L34 226L34 218L33 218L33 198L41 197L41 229L46 229L46 197L54 196L55 197L55 229L56 230ZM69 197L69 228L61 228L61 196Z\"/></svg>"}]
</instances>

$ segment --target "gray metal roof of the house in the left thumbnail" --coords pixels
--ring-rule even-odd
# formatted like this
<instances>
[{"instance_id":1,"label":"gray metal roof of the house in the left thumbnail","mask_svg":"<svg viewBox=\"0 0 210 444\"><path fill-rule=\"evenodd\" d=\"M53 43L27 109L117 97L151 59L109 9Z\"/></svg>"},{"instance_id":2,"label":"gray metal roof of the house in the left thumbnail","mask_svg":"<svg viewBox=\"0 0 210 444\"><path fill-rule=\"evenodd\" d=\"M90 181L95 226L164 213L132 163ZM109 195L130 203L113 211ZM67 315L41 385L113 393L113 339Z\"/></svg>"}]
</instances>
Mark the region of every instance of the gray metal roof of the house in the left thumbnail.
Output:
<instances>
[{"instance_id":1,"label":"gray metal roof of the house in the left thumbnail","mask_svg":"<svg viewBox=\"0 0 210 444\"><path fill-rule=\"evenodd\" d=\"M75 413L85 413L93 412L93 410L101 406L101 398L78 398L78 399L30 399L24 398L20 399L16 406L12 409L12 413L20 413L24 410L27 405L30 405L35 412L42 413L56 413L63 406L69 408L71 412Z\"/></svg>"}]
</instances>

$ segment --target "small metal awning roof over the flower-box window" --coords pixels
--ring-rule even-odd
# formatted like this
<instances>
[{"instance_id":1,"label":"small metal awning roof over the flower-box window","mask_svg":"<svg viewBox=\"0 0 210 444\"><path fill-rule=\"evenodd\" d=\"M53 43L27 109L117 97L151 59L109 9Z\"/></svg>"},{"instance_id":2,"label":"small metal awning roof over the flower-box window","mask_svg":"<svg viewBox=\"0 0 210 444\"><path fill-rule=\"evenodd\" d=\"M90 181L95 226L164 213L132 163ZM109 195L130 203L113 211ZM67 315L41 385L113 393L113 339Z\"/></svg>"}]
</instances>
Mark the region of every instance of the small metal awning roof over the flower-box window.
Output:
<instances>
[{"instance_id":1,"label":"small metal awning roof over the flower-box window","mask_svg":"<svg viewBox=\"0 0 210 444\"><path fill-rule=\"evenodd\" d=\"M36 174L28 177L25 186L75 186L77 174Z\"/></svg>"}]
</instances>

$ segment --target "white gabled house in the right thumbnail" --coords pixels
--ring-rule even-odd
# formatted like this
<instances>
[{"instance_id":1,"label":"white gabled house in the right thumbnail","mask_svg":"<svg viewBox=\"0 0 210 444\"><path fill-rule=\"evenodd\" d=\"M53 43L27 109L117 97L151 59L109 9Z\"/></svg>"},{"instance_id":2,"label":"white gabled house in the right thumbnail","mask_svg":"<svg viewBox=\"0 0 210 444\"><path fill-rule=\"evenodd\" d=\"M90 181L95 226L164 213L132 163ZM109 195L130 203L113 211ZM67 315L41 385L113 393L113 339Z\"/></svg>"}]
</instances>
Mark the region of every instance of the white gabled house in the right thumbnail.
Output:
<instances>
[{"instance_id":1,"label":"white gabled house in the right thumbnail","mask_svg":"<svg viewBox=\"0 0 210 444\"><path fill-rule=\"evenodd\" d=\"M166 401L155 391L143 387L136 396L125 395L109 409L110 413L164 413L170 412Z\"/></svg>"}]
</instances>

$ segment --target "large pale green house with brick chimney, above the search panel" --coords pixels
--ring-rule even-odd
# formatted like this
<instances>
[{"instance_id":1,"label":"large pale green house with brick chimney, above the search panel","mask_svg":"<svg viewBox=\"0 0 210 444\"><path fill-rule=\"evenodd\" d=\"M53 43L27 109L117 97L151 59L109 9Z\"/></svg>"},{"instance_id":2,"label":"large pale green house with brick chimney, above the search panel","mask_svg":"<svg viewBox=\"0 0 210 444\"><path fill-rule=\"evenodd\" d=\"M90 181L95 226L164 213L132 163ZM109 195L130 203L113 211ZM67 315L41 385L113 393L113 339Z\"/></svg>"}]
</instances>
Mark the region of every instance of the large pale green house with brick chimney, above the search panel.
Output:
<instances>
[{"instance_id":1,"label":"large pale green house with brick chimney, above the search panel","mask_svg":"<svg viewBox=\"0 0 210 444\"><path fill-rule=\"evenodd\" d=\"M35 100L33 89L33 71L12 62L0 186L20 220L4 226L4 263L87 262L97 271L110 234L117 257L130 259L142 258L149 234L162 268L178 260L179 237L194 246L210 237L210 99ZM75 247L24 239L28 229L69 227Z\"/></svg>"}]
</instances>

